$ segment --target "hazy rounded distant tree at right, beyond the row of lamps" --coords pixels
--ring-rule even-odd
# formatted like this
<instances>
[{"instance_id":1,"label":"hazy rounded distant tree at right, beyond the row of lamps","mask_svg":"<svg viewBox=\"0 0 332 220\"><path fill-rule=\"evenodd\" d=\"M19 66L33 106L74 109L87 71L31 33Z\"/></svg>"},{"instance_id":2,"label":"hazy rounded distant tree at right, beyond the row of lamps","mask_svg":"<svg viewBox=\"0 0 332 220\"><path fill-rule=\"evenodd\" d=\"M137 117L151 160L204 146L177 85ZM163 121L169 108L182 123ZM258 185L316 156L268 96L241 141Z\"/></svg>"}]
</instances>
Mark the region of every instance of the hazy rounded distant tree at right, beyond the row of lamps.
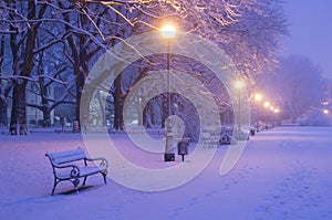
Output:
<instances>
[{"instance_id":1,"label":"hazy rounded distant tree at right, beyond the row of lamps","mask_svg":"<svg viewBox=\"0 0 332 220\"><path fill-rule=\"evenodd\" d=\"M330 96L321 67L303 55L279 57L278 67L261 75L258 84L268 96L273 95L282 118L291 118L292 123L312 107L322 107Z\"/></svg>"}]
</instances>

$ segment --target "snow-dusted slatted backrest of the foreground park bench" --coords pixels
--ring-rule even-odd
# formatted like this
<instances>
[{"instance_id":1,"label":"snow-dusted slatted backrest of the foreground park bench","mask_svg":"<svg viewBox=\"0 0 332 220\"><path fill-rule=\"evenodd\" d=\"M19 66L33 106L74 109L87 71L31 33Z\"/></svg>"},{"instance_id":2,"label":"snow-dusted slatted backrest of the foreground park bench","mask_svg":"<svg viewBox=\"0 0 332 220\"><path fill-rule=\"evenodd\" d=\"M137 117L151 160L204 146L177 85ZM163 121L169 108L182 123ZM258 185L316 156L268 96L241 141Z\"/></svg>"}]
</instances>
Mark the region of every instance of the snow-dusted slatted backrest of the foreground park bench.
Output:
<instances>
[{"instance_id":1,"label":"snow-dusted slatted backrest of the foreground park bench","mask_svg":"<svg viewBox=\"0 0 332 220\"><path fill-rule=\"evenodd\" d=\"M52 164L62 165L65 163L76 161L85 159L86 155L82 148L60 151L60 153L46 153Z\"/></svg>"}]
</instances>

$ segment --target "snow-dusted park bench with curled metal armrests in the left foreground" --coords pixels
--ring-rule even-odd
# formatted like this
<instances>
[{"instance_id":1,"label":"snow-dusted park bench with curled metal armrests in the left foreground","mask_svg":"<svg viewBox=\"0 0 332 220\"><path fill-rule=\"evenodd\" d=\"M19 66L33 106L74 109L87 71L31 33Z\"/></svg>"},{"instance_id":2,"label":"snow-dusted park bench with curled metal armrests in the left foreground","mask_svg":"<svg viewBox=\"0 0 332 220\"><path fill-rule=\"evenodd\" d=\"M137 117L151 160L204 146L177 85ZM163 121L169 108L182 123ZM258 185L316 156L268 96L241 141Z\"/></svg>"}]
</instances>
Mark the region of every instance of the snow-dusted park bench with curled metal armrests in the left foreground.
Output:
<instances>
[{"instance_id":1,"label":"snow-dusted park bench with curled metal armrests in the left foreground","mask_svg":"<svg viewBox=\"0 0 332 220\"><path fill-rule=\"evenodd\" d=\"M46 153L45 156L49 157L53 168L54 185L52 196L54 195L56 185L64 180L71 181L76 192L79 192L80 178L84 178L82 186L85 186L86 178L95 174L102 174L106 185L108 163L104 158L89 158L82 148L60 153ZM100 161L100 165L96 165L96 161Z\"/></svg>"}]
</instances>

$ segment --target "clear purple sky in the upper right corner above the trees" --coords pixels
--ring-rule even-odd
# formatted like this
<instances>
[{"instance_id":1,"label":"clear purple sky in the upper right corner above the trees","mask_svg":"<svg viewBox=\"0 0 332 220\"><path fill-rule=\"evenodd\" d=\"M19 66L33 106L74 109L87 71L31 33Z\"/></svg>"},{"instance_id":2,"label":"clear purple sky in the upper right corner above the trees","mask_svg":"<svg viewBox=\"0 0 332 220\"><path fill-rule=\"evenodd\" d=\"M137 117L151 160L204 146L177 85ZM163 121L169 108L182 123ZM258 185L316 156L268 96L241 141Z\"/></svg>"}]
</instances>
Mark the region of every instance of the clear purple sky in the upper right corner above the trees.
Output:
<instances>
[{"instance_id":1,"label":"clear purple sky in the upper right corner above the trees","mask_svg":"<svg viewBox=\"0 0 332 220\"><path fill-rule=\"evenodd\" d=\"M286 0L291 36L283 55L301 54L332 78L332 0Z\"/></svg>"}]
</instances>

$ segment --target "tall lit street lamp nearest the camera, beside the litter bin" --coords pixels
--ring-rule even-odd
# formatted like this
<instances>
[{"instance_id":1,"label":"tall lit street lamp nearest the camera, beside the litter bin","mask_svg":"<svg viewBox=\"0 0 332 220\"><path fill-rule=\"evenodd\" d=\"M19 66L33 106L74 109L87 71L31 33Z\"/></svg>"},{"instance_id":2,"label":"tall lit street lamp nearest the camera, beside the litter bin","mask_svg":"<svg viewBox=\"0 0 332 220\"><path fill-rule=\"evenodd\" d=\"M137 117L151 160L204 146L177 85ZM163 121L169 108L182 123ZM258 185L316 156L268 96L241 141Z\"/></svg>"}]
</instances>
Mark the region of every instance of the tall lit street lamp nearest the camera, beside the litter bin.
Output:
<instances>
[{"instance_id":1,"label":"tall lit street lamp nearest the camera, beside the litter bin","mask_svg":"<svg viewBox=\"0 0 332 220\"><path fill-rule=\"evenodd\" d=\"M170 69L170 53L169 45L172 39L175 38L176 30L173 25L166 24L160 29L162 36L166 40L167 43L167 116L168 122L166 123L166 149L164 155L165 161L174 161L175 154L173 150L173 134L172 134L172 122L170 116L170 82L169 82L169 69Z\"/></svg>"}]
</instances>

